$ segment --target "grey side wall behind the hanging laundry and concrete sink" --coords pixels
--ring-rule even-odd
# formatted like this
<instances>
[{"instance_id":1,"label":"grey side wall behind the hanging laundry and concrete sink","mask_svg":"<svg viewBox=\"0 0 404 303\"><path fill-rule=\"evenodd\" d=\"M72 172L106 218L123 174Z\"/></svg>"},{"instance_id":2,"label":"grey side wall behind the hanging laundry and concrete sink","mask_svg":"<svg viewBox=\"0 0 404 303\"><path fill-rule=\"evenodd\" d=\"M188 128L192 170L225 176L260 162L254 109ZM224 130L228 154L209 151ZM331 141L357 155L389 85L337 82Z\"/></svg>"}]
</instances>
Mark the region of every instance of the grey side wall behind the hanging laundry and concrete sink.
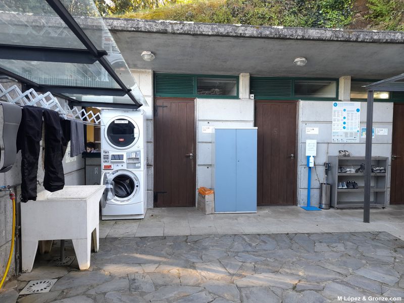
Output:
<instances>
[{"instance_id":1,"label":"grey side wall behind the hanging laundry and concrete sink","mask_svg":"<svg viewBox=\"0 0 404 303\"><path fill-rule=\"evenodd\" d=\"M18 82L2 80L3 87L10 87L17 84L21 89L21 85ZM4 100L4 99L2 99ZM64 106L64 100L59 99L62 107ZM3 117L0 117L3 119ZM0 121L3 123L3 121ZM63 159L63 169L65 173L65 185L84 185L84 161L81 156L77 156L77 160L66 163L66 157ZM37 191L43 190L43 177L44 171L42 169L41 154L39 155L37 180L40 185L37 185ZM16 162L13 168L6 172L0 173L0 186L10 185L12 186L16 198L17 198L17 209L19 201L19 196L21 193L21 151L17 154ZM3 274L7 264L10 245L11 245L11 228L12 228L12 204L9 198L8 192L0 192L0 273ZM13 254L14 255L14 254ZM14 258L14 256L13 256ZM13 260L9 275L11 277L15 275L15 262Z\"/></svg>"}]
</instances>

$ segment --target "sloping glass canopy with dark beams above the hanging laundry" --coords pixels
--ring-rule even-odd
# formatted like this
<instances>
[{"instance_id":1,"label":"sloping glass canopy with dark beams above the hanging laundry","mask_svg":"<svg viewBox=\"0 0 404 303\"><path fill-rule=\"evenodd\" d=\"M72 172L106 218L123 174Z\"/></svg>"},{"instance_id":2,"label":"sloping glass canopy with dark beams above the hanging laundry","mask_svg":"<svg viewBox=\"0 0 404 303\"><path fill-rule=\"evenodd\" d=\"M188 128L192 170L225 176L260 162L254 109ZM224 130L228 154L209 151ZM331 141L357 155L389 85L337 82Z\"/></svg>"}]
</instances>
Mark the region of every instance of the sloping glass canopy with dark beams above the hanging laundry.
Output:
<instances>
[{"instance_id":1,"label":"sloping glass canopy with dark beams above the hanging laundry","mask_svg":"<svg viewBox=\"0 0 404 303\"><path fill-rule=\"evenodd\" d=\"M0 73L82 102L146 104L92 0L0 0Z\"/></svg>"}]
</instances>

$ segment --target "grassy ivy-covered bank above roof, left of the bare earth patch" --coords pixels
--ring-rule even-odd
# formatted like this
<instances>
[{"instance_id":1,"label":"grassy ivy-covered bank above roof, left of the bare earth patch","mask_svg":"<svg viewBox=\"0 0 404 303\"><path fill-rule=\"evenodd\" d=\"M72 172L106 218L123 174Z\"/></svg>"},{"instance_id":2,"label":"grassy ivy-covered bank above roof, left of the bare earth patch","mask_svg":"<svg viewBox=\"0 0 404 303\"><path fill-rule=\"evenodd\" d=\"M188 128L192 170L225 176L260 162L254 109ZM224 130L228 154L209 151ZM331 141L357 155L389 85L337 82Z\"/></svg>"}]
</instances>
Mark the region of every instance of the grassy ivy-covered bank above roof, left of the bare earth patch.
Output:
<instances>
[{"instance_id":1,"label":"grassy ivy-covered bank above roof, left of the bare earth patch","mask_svg":"<svg viewBox=\"0 0 404 303\"><path fill-rule=\"evenodd\" d=\"M352 0L193 0L154 10L127 12L121 16L195 22L335 28L350 23L353 15L351 2Z\"/></svg>"}]
</instances>

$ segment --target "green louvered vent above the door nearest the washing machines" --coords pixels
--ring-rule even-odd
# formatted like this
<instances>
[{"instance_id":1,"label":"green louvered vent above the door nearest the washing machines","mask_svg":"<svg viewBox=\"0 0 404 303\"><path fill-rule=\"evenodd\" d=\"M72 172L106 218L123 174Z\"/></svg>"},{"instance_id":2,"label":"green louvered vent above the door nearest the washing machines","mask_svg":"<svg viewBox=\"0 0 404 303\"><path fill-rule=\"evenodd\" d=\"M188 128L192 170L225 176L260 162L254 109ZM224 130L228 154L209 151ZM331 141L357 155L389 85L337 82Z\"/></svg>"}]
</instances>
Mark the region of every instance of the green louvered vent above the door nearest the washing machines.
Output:
<instances>
[{"instance_id":1,"label":"green louvered vent above the door nearest the washing machines","mask_svg":"<svg viewBox=\"0 0 404 303\"><path fill-rule=\"evenodd\" d=\"M193 76L186 75L155 75L156 96L181 96L195 94L195 81Z\"/></svg>"}]
</instances>

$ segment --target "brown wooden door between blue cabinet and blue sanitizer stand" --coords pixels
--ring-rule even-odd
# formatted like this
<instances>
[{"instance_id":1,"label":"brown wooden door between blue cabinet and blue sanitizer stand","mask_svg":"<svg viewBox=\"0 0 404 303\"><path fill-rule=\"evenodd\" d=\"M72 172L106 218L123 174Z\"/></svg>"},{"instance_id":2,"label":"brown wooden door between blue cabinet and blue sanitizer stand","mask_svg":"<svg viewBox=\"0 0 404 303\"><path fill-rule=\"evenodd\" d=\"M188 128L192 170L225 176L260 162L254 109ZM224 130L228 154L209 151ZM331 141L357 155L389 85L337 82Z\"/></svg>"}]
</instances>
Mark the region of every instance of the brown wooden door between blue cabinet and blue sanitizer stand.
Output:
<instances>
[{"instance_id":1,"label":"brown wooden door between blue cabinet and blue sanitizer stand","mask_svg":"<svg viewBox=\"0 0 404 303\"><path fill-rule=\"evenodd\" d=\"M296 204L296 104L256 100L259 206Z\"/></svg>"}]
</instances>

